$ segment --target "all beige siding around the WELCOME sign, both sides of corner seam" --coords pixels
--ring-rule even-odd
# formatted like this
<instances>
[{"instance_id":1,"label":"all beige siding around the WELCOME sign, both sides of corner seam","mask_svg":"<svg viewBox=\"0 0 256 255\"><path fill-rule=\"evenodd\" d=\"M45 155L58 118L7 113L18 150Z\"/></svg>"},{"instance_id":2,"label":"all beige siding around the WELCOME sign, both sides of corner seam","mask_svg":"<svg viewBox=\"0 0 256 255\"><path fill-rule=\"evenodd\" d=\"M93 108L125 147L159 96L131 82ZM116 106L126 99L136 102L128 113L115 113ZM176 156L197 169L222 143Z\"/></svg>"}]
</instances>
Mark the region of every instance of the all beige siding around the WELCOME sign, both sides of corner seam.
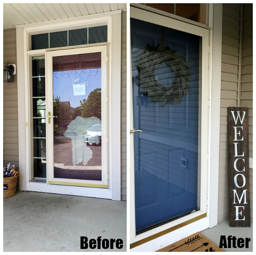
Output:
<instances>
[{"instance_id":1,"label":"all beige siding around the WELCOME sign, both sides of corner seam","mask_svg":"<svg viewBox=\"0 0 256 255\"><path fill-rule=\"evenodd\" d=\"M252 157L252 7L244 4L241 107L249 107L249 157ZM250 9L251 8L251 9ZM251 29L251 31L248 31ZM227 107L237 106L240 40L240 4L223 4L222 82L219 148L218 220L229 216ZM252 169L250 169L252 190ZM251 199L252 200L252 194ZM252 216L252 201L251 201ZM252 218L251 218L252 219Z\"/></svg>"}]
</instances>

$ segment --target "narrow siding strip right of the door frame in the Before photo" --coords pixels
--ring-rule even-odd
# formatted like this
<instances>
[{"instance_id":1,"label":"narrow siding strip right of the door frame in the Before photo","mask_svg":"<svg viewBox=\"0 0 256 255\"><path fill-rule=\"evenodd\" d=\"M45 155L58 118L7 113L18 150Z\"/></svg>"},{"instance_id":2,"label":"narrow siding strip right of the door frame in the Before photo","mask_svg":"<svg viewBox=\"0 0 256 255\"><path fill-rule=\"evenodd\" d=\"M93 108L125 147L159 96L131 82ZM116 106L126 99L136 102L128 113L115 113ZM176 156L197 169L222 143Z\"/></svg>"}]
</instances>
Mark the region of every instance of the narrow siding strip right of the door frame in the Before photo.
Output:
<instances>
[{"instance_id":1,"label":"narrow siding strip right of the door frame in the Before photo","mask_svg":"<svg viewBox=\"0 0 256 255\"><path fill-rule=\"evenodd\" d=\"M121 199L126 200L126 11L122 12L121 39Z\"/></svg>"}]
</instances>

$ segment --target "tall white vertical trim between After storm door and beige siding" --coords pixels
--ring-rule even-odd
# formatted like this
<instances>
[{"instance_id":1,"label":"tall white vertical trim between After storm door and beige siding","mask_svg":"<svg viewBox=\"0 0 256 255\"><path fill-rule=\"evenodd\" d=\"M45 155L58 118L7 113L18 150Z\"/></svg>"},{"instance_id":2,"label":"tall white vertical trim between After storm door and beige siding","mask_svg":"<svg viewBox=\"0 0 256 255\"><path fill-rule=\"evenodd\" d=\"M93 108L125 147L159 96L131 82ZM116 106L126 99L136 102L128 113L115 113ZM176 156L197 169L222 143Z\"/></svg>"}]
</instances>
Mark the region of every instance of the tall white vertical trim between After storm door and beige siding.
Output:
<instances>
[{"instance_id":1,"label":"tall white vertical trim between After storm door and beige siding","mask_svg":"<svg viewBox=\"0 0 256 255\"><path fill-rule=\"evenodd\" d=\"M219 187L219 145L220 145L220 107L221 107L221 63L222 63L222 4L209 4L210 31L210 143L209 143L209 212L212 228L218 223Z\"/></svg>"}]
</instances>

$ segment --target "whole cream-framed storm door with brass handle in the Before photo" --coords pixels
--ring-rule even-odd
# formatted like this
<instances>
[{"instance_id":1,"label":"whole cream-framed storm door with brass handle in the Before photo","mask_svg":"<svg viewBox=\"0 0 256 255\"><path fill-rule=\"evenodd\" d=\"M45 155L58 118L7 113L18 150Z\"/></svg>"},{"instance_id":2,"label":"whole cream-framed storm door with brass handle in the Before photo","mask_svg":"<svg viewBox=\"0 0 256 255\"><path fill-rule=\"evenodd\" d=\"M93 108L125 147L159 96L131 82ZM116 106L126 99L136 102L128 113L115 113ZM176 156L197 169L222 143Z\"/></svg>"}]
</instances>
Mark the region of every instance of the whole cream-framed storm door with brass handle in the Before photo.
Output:
<instances>
[{"instance_id":1,"label":"whole cream-framed storm door with brass handle in the Before photo","mask_svg":"<svg viewBox=\"0 0 256 255\"><path fill-rule=\"evenodd\" d=\"M107 46L47 51L47 183L108 189Z\"/></svg>"}]
</instances>

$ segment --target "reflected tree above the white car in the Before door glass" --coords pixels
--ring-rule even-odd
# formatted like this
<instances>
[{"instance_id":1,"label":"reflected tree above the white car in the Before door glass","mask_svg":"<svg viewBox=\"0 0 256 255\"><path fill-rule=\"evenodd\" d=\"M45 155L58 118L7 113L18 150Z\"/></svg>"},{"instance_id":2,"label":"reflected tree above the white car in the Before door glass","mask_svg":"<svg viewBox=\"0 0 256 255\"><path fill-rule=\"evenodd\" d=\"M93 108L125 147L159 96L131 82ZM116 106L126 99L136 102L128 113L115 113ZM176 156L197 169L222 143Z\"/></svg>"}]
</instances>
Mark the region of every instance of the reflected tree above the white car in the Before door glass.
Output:
<instances>
[{"instance_id":1,"label":"reflected tree above the white car in the Before door glass","mask_svg":"<svg viewBox=\"0 0 256 255\"><path fill-rule=\"evenodd\" d=\"M87 99L80 100L82 118L97 117L101 119L101 89L97 88L90 92Z\"/></svg>"}]
</instances>

